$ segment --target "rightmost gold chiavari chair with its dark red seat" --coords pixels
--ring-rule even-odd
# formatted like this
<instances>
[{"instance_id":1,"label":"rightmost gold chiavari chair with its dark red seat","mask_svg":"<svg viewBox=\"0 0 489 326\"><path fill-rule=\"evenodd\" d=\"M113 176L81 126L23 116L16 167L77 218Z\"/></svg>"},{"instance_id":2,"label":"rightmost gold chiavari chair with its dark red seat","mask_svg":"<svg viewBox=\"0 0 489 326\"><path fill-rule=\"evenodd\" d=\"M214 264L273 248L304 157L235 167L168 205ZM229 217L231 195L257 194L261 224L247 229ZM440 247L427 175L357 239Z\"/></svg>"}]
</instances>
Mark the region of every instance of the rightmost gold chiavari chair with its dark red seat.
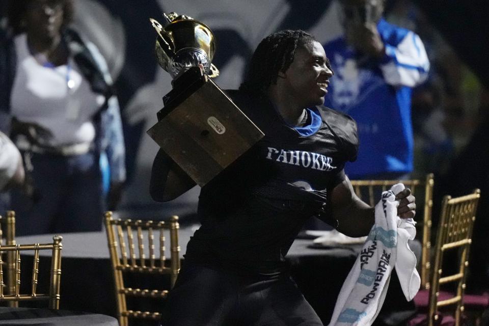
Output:
<instances>
[{"instance_id":1,"label":"rightmost gold chiavari chair with its dark red seat","mask_svg":"<svg viewBox=\"0 0 489 326\"><path fill-rule=\"evenodd\" d=\"M479 198L479 189L475 189L470 195L443 198L431 288L418 292L415 297L418 309L423 310L426 305L427 313L416 316L409 325L439 325L442 319L444 323L450 322L456 326L461 324L460 319L466 304L465 280L469 266L469 249ZM445 259L458 264L444 264ZM469 301L473 301L476 296L469 295Z\"/></svg>"}]
</instances>

